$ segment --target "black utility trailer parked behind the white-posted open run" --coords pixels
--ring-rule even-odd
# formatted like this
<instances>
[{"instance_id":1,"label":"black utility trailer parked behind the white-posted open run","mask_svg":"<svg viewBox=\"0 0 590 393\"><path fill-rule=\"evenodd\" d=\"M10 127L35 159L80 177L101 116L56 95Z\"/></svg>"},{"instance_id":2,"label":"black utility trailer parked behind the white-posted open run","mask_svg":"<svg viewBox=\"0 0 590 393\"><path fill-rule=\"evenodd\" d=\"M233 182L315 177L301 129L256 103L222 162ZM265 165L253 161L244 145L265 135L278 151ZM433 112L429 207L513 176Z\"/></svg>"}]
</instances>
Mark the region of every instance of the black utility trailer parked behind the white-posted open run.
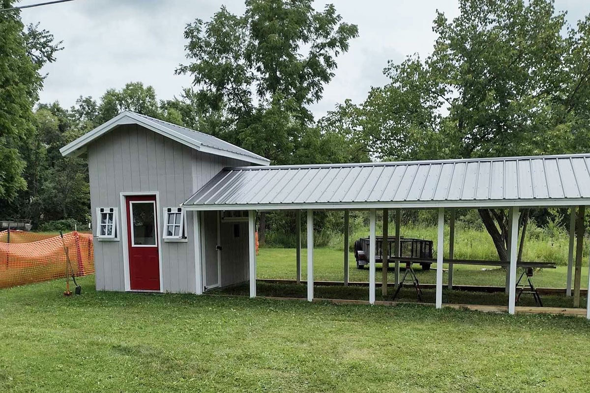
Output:
<instances>
[{"instance_id":1,"label":"black utility trailer parked behind the white-posted open run","mask_svg":"<svg viewBox=\"0 0 590 393\"><path fill-rule=\"evenodd\" d=\"M383 236L376 236L375 237L376 243L376 252L375 252L375 262L382 263L383 262ZM389 263L395 263L395 236L388 237L388 250L386 252L387 260ZM401 257L406 258L432 258L432 240L425 240L425 239L412 239L409 237L400 237L400 255ZM356 259L356 268L363 269L363 266L369 265L369 238L368 237L361 237L359 240L355 241L355 259ZM422 270L429 270L432 262L430 261L421 261L416 262L422 266Z\"/></svg>"}]
</instances>

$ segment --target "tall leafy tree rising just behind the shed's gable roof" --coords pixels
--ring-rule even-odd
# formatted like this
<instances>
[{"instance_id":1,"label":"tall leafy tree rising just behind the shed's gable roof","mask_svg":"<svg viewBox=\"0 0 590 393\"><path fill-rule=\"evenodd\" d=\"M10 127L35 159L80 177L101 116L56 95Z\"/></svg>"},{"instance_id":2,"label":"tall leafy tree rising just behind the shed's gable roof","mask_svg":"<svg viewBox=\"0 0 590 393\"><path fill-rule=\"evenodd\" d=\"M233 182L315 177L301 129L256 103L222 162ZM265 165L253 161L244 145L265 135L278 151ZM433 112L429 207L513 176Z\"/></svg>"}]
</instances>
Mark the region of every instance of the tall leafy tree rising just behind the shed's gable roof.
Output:
<instances>
[{"instance_id":1,"label":"tall leafy tree rising just behind the shed's gable roof","mask_svg":"<svg viewBox=\"0 0 590 393\"><path fill-rule=\"evenodd\" d=\"M322 98L336 57L358 35L333 5L311 0L248 0L242 16L222 7L209 22L185 29L187 58L178 74L193 77L185 91L212 134L276 164L290 163L313 123L308 105Z\"/></svg>"}]
</instances>

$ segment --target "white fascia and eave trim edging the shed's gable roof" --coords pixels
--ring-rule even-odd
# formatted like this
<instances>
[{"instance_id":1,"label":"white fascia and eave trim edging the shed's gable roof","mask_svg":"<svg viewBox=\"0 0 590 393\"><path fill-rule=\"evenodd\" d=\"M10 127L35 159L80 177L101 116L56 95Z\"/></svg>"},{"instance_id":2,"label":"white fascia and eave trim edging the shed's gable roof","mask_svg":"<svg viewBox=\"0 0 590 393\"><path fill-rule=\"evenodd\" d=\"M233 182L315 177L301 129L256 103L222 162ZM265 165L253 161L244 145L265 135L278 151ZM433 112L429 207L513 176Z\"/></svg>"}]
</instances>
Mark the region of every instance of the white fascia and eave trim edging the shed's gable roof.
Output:
<instances>
[{"instance_id":1,"label":"white fascia and eave trim edging the shed's gable roof","mask_svg":"<svg viewBox=\"0 0 590 393\"><path fill-rule=\"evenodd\" d=\"M204 153L215 154L216 156L224 156L228 158L234 158L236 160L241 160L253 164L259 164L268 166L270 164L270 160L264 157L251 157L245 156L243 154L233 153L231 151L226 150L219 150L216 148L204 146L202 143L196 140L187 140L181 134L177 133L174 130L171 130L168 127L160 126L153 121L150 121L146 118L136 115L132 112L123 112L119 115L113 117L111 120L107 121L104 124L101 124L99 127L94 128L93 130L89 131L88 133L84 134L83 136L77 138L76 140L68 143L64 147L60 148L60 153L62 156L70 156L70 157L77 157L83 154L87 150L87 146L92 141L100 138L104 134L111 131L113 128L117 126L122 126L124 124L138 124L139 126L148 128L149 130L158 133L162 136L168 137L173 141L181 143L185 146L191 147L194 150L202 151Z\"/></svg>"}]
</instances>

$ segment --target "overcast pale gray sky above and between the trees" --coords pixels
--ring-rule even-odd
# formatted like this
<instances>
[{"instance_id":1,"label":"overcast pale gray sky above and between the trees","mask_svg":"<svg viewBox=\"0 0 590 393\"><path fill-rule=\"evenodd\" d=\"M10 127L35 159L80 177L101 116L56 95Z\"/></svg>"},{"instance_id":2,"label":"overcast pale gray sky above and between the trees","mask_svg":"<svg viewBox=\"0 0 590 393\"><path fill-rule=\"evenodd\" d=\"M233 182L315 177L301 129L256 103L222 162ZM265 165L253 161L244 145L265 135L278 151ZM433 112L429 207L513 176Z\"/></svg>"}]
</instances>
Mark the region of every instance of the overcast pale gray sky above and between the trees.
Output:
<instances>
[{"instance_id":1,"label":"overcast pale gray sky above and between the trees","mask_svg":"<svg viewBox=\"0 0 590 393\"><path fill-rule=\"evenodd\" d=\"M19 5L41 2L24 0ZM366 97L371 86L383 85L388 60L401 61L432 50L432 20L436 9L448 18L457 16L457 0L333 0L316 1L316 9L332 2L343 21L357 24L359 37L337 59L338 69L312 107L322 116L336 103ZM556 0L556 9L567 10L569 22L590 13L589 0ZM63 51L47 65L41 102L60 101L70 107L80 95L98 99L108 88L122 88L131 81L152 85L159 99L178 96L191 84L188 76L174 75L185 62L185 25L207 21L219 6L242 14L243 0L75 0L22 10L25 23L41 22Z\"/></svg>"}]
</instances>

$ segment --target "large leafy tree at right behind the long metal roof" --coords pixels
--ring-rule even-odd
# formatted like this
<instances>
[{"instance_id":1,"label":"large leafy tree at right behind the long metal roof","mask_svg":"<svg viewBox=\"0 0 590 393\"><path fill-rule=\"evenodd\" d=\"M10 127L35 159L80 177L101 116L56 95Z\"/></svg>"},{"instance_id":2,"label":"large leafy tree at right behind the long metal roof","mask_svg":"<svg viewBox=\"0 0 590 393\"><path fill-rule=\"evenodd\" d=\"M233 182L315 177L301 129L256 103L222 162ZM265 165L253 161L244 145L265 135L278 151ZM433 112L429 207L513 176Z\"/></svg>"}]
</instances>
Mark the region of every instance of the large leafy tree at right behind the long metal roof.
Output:
<instances>
[{"instance_id":1,"label":"large leafy tree at right behind the long metal roof","mask_svg":"<svg viewBox=\"0 0 590 393\"><path fill-rule=\"evenodd\" d=\"M388 65L391 82L372 88L353 129L382 159L588 151L589 28L550 0L461 0L453 21L437 13L431 55ZM506 212L479 212L507 260Z\"/></svg>"}]
</instances>

